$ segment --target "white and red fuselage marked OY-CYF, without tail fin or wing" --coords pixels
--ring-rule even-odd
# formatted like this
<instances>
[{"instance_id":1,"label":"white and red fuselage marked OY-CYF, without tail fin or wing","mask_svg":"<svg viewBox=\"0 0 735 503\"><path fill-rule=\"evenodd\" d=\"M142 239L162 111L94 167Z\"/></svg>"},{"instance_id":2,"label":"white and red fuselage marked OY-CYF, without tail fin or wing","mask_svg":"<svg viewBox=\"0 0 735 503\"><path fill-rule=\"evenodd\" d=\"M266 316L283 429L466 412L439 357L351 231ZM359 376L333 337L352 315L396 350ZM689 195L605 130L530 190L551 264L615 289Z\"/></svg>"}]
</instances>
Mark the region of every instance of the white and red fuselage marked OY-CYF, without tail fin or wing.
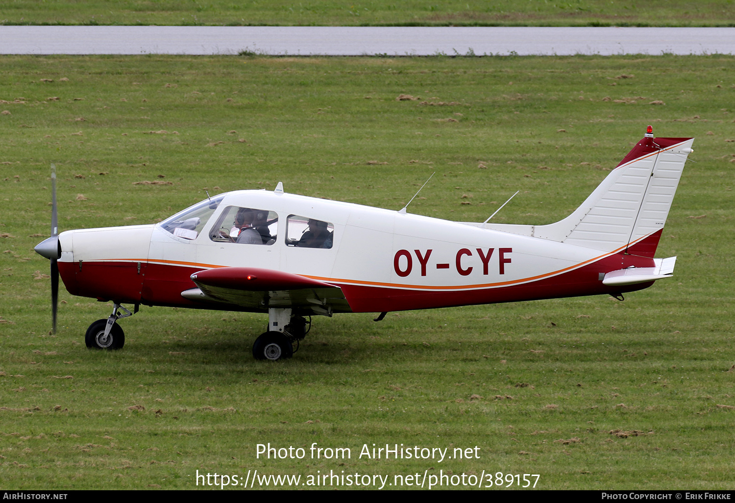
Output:
<instances>
[{"instance_id":1,"label":"white and red fuselage marked OY-CYF, without tail fin or wing","mask_svg":"<svg viewBox=\"0 0 735 503\"><path fill-rule=\"evenodd\" d=\"M199 213L184 210L178 220L172 217L162 224L62 232L58 264L67 290L118 304L212 308L182 297L195 287L190 276L209 268L252 267L335 285L347 301L343 311L381 312L615 295L651 284L603 285L609 271L653 266L652 258L625 253L625 247L600 251L477 224L269 190L238 190L215 201L209 209L202 201ZM237 208L265 215L260 229L268 224L268 239L256 244L225 238ZM198 224L190 218L193 228L184 229L181 222L187 215L206 218L199 218ZM330 246L298 245L299 236L311 232L311 220L329 225ZM182 230L173 229L171 222ZM255 222L252 227L257 228ZM245 230L237 232L245 236ZM640 241L654 238L658 236Z\"/></svg>"}]
</instances>

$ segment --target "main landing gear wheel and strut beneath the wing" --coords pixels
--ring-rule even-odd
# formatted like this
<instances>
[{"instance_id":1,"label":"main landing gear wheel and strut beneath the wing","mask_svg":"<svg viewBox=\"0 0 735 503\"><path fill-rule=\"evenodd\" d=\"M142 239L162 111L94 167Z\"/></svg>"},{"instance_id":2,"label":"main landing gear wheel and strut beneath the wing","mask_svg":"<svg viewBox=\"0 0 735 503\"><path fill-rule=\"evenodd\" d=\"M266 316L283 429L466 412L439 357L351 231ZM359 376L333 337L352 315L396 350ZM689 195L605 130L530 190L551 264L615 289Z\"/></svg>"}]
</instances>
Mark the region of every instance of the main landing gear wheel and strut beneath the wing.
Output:
<instances>
[{"instance_id":1,"label":"main landing gear wheel and strut beneath the wing","mask_svg":"<svg viewBox=\"0 0 735 503\"><path fill-rule=\"evenodd\" d=\"M309 318L308 328L303 316L291 315L290 309L268 310L268 332L262 333L253 344L253 357L256 360L282 360L290 358L298 351L298 341L304 339L312 327ZM293 349L293 345L296 349Z\"/></svg>"}]
</instances>

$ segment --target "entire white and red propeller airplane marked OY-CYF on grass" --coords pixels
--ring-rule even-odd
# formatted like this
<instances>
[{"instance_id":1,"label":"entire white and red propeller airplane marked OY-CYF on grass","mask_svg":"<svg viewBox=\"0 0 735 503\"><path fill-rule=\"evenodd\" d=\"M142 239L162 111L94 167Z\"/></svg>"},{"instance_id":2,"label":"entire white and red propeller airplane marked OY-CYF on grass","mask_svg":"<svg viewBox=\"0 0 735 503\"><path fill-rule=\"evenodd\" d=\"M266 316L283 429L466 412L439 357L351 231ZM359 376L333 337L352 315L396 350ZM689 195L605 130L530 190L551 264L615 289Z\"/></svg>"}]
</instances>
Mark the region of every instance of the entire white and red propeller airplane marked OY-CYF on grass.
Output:
<instances>
[{"instance_id":1,"label":"entire white and red propeller airplane marked OY-CYF on grass","mask_svg":"<svg viewBox=\"0 0 735 503\"><path fill-rule=\"evenodd\" d=\"M652 129L567 218L548 225L453 222L276 190L235 190L154 225L77 229L35 250L69 293L112 301L87 329L119 349L122 304L268 313L257 359L293 355L312 315L623 293L670 277L654 258L693 138ZM52 175L55 182L55 174ZM55 183L54 183L55 187ZM490 220L490 219L488 219ZM124 313L123 313L124 312ZM309 321L306 321L309 318Z\"/></svg>"}]
</instances>

